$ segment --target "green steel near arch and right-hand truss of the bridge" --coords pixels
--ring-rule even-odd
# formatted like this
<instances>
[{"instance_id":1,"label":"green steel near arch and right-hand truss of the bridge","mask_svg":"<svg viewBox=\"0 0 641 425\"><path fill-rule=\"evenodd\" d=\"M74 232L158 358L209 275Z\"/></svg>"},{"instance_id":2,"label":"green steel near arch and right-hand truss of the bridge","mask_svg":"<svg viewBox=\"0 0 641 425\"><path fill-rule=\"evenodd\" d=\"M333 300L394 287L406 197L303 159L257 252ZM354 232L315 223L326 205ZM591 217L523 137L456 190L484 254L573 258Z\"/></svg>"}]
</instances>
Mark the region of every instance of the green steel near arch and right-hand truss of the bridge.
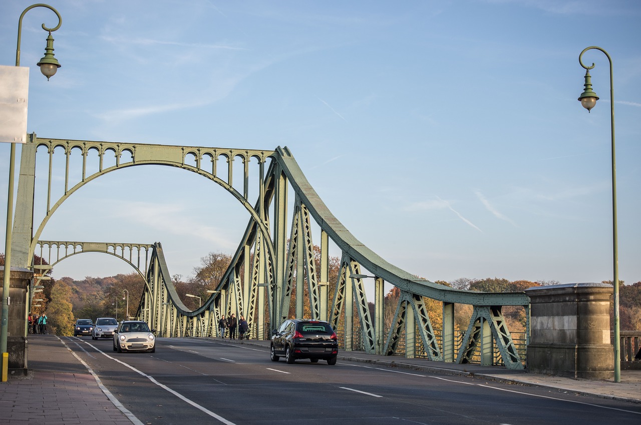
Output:
<instances>
[{"instance_id":1,"label":"green steel near arch and right-hand truss of the bridge","mask_svg":"<svg viewBox=\"0 0 641 425\"><path fill-rule=\"evenodd\" d=\"M347 350L354 349L355 342L359 346L357 340L360 340L359 347L366 351L395 354L403 345L399 342L404 335L406 356L415 356L415 350L422 348L432 360L465 363L472 361L475 353L480 353L482 363L492 364L492 348L495 347L501 362L507 367L523 367L523 359L507 329L501 306L525 306L526 317L529 317L529 299L525 294L455 290L417 279L386 262L354 238L329 212L286 147L278 147L274 151L257 151L46 139L31 135L28 143L22 147L18 199L33 199L35 154L38 146L47 147L49 154L45 218L31 238L33 223L28 222L25 217L33 217L33 202L19 202L13 229L15 237L12 244L12 265L31 266L30 259L33 258L38 235L65 199L89 181L123 167L170 165L196 172L228 190L249 212L249 223L228 270L215 294L197 310L187 310L178 299L162 246L154 244L147 267L147 287L137 314L149 321L162 335L215 335L215 324L220 315L236 312L247 316L258 337L266 337L269 323L273 326L287 317L290 305L295 305L297 315L301 316L304 304L308 303L313 318L327 319L335 327L342 318L342 338ZM62 149L66 155L65 186L63 196L51 206L51 164L56 149ZM80 181L70 187L69 159L74 149L79 149L83 156L83 169ZM99 157L98 169L88 172L87 155L92 153ZM115 155L113 165L105 165L108 153ZM130 156L130 159L121 160L123 154ZM219 157L226 160L223 167L219 166ZM244 166L244 180L239 188L232 181L234 158L241 158ZM258 181L255 183L258 196L253 199L253 204L248 197L251 158L258 160L259 167ZM206 160L212 163L211 169L204 169ZM269 169L265 171L264 165L268 160ZM292 223L288 226L290 187L295 199ZM311 219L321 230L320 270L316 269L314 262ZM331 305L327 290L330 239L342 251L340 273ZM375 275L374 321L369 312L360 274L361 267ZM384 281L401 290L392 328L387 335L383 332ZM308 286L308 299L304 299L303 290L296 291L296 297L292 299L294 288L303 288L303 285ZM442 329L433 329L424 297L442 302ZM469 326L460 342L454 337L455 304L474 306Z\"/></svg>"}]
</instances>

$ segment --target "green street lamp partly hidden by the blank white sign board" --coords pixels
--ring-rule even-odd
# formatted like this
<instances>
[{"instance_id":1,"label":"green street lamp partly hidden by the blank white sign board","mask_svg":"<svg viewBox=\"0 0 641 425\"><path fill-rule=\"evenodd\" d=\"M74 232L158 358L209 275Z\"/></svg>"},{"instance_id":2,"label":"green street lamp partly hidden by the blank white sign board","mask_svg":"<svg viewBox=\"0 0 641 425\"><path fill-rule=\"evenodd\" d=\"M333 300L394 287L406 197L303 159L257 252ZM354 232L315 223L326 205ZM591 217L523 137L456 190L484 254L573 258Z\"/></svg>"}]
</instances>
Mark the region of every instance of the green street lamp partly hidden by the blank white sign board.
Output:
<instances>
[{"instance_id":1,"label":"green street lamp partly hidden by the blank white sign board","mask_svg":"<svg viewBox=\"0 0 641 425\"><path fill-rule=\"evenodd\" d=\"M20 42L22 38L22 18L25 13L29 10L37 7L46 7L56 13L58 17L58 25L54 28L47 28L42 24L42 29L49 31L49 37L47 37L47 47L45 49L45 55L37 65L40 67L40 71L47 77L53 76L56 73L58 68L60 68L60 63L53 57L53 38L51 33L56 31L62 25L62 17L60 13L55 10L53 7L48 4L31 4L28 8L22 11L20 19L18 20L18 42L15 49L15 66L20 66ZM6 202L6 235L4 238L4 279L3 279L3 295L2 295L2 325L0 330L0 352L3 355L3 374L2 381L6 381L6 373L4 373L8 368L8 363L4 360L8 359L8 356L4 356L4 353L7 353L7 337L8 337L8 321L9 321L9 283L11 275L11 231L12 231L12 219L13 219L13 169L15 169L15 143L11 144L11 150L9 154L9 181L8 181L8 196ZM8 362L8 360L7 360Z\"/></svg>"}]
</instances>

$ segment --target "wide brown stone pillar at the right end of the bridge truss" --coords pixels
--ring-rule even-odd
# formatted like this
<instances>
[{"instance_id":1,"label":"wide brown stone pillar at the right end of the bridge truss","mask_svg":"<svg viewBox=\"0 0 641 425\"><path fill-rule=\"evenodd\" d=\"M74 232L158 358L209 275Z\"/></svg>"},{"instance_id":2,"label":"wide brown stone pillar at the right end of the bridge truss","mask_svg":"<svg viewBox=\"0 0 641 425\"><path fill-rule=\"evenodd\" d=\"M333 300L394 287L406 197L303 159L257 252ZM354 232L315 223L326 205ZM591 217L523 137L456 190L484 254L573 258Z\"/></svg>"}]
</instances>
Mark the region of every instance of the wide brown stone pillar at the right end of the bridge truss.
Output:
<instances>
[{"instance_id":1,"label":"wide brown stone pillar at the right end of the bridge truss","mask_svg":"<svg viewBox=\"0 0 641 425\"><path fill-rule=\"evenodd\" d=\"M531 326L528 372L612 379L612 285L570 283L526 289Z\"/></svg>"}]
</instances>

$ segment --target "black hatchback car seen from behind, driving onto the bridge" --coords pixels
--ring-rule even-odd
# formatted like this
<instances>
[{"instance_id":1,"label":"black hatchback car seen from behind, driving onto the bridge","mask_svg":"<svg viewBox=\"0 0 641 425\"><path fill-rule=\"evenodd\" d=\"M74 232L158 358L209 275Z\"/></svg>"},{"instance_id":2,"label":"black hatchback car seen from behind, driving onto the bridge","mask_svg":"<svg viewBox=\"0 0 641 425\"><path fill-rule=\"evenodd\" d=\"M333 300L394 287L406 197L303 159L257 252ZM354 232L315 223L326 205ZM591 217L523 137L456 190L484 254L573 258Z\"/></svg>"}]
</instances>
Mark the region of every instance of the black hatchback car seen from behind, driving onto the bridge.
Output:
<instances>
[{"instance_id":1,"label":"black hatchback car seen from behind, driving onto the bridge","mask_svg":"<svg viewBox=\"0 0 641 425\"><path fill-rule=\"evenodd\" d=\"M328 322L290 319L274 329L271 341L272 362L285 356L287 363L299 358L310 362L326 360L335 365L338 355L338 337Z\"/></svg>"}]
</instances>

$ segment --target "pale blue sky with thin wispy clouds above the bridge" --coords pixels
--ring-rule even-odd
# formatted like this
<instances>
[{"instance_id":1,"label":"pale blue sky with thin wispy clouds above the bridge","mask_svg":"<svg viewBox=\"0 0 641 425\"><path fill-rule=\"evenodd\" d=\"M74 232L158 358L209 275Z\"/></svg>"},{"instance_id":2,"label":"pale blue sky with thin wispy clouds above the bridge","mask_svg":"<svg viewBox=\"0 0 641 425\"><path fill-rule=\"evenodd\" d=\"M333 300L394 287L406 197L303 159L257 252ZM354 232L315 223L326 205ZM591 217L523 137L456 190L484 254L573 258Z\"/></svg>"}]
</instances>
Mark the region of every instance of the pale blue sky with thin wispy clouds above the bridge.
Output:
<instances>
[{"instance_id":1,"label":"pale blue sky with thin wispy clouds above the bridge","mask_svg":"<svg viewBox=\"0 0 641 425\"><path fill-rule=\"evenodd\" d=\"M15 64L17 22L30 4L0 4L0 65ZM601 99L590 113L577 101L579 53L602 47L613 60L619 278L641 281L639 1L48 4L62 15L53 33L62 67L47 81L35 66L47 36L40 25L57 19L29 11L29 133L287 146L354 237L431 281L612 280L612 96L600 51L583 62L595 63ZM0 205L9 150L0 144ZM187 278L206 254L233 253L248 219L194 173L129 167L73 194L40 239L158 241L171 274ZM87 253L53 275L131 271Z\"/></svg>"}]
</instances>

